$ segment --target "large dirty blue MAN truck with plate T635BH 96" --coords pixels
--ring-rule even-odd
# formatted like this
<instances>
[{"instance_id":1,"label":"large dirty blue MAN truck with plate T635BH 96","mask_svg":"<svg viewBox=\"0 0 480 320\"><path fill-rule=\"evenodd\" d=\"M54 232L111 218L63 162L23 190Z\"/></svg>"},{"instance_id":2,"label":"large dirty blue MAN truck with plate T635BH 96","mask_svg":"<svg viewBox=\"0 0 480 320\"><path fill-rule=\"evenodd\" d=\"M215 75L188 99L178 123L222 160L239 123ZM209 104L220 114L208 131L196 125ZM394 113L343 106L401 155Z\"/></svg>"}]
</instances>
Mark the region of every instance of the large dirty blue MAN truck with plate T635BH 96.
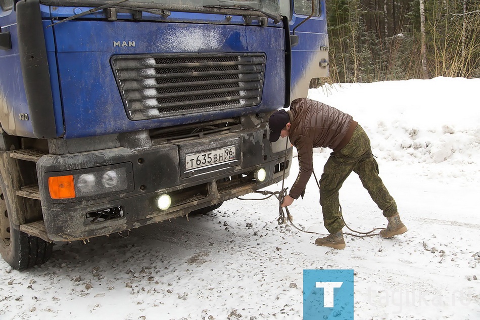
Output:
<instances>
[{"instance_id":1,"label":"large dirty blue MAN truck with plate T635BH 96","mask_svg":"<svg viewBox=\"0 0 480 320\"><path fill-rule=\"evenodd\" d=\"M324 0L0 0L3 259L280 181L268 118L327 75Z\"/></svg>"}]
</instances>

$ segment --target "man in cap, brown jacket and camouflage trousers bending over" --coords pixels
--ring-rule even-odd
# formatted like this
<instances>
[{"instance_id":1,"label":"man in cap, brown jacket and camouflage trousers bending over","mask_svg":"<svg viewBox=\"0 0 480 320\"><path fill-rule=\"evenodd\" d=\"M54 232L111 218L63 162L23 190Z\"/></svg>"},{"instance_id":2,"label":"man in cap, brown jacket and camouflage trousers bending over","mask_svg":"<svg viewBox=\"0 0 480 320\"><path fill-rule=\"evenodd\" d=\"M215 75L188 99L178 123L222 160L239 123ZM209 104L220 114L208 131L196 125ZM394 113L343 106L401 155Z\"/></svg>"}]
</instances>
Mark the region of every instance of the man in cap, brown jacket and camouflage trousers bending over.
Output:
<instances>
[{"instance_id":1,"label":"man in cap, brown jacket and camouflage trousers bending over","mask_svg":"<svg viewBox=\"0 0 480 320\"><path fill-rule=\"evenodd\" d=\"M363 128L352 116L321 102L307 98L296 99L289 111L279 110L269 120L270 141L280 136L290 137L297 148L300 172L281 204L291 205L305 192L313 172L313 148L330 148L330 154L320 178L320 205L323 223L330 233L315 240L318 246L344 249L342 228L345 226L339 210L339 190L345 179L354 171L372 200L388 218L386 229L380 231L383 238L403 234L407 227L400 220L397 204L378 176L378 164L373 158L370 140Z\"/></svg>"}]
</instances>

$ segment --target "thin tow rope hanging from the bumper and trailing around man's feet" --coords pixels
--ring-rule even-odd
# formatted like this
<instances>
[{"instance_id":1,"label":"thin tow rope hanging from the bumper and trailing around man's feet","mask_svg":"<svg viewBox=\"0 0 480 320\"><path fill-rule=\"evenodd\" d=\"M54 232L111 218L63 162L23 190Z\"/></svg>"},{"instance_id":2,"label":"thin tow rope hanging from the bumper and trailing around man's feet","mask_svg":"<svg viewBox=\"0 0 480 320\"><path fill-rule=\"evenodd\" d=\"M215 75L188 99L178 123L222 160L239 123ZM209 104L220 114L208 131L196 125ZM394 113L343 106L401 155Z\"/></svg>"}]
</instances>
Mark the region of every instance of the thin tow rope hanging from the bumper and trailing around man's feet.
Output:
<instances>
[{"instance_id":1,"label":"thin tow rope hanging from the bumper and trailing around man's feet","mask_svg":"<svg viewBox=\"0 0 480 320\"><path fill-rule=\"evenodd\" d=\"M281 190L280 191L273 191L273 192L268 191L268 190L254 191L254 193L258 193L258 194L262 194L262 195L266 196L264 198L239 198L239 197L237 197L237 199L238 200L266 200L266 199L274 196L278 200L278 219L277 219L278 224L286 224L286 221L285 221L285 212L286 212L286 218L289 220L289 222L297 230L299 230L301 232L304 232L304 233L307 233L307 234L322 235L322 234L319 234L317 232L307 231L307 230L303 230L303 229L299 228L293 222L293 218L292 218L292 215L290 214L289 207L285 207L285 212L283 211L283 208L281 207L281 204L283 203L283 199L286 196L286 191L288 189L288 188L284 188L284 185L285 185L286 154L287 154L287 150L288 150L288 146L289 146L288 143L289 143L289 139L286 139L285 155L284 155L284 160L283 160L283 176L282 176ZM313 176L315 177L315 182L317 182L318 190L320 190L320 184L318 182L317 176L315 175L315 171L313 171ZM383 229L383 228L373 228L371 231L368 231L368 232L360 232L360 231L353 230L351 227L348 226L347 222L345 222L345 219L344 219L343 213L342 213L342 206L339 206L339 210L340 210L340 216L341 216L342 221L344 222L345 226L348 228L348 230L350 230L351 232L354 233L354 234L344 233L344 235L349 235L349 236L353 236L353 237L372 237L372 236L377 236L377 235L380 234L378 232L374 233L376 230L382 230Z\"/></svg>"}]
</instances>

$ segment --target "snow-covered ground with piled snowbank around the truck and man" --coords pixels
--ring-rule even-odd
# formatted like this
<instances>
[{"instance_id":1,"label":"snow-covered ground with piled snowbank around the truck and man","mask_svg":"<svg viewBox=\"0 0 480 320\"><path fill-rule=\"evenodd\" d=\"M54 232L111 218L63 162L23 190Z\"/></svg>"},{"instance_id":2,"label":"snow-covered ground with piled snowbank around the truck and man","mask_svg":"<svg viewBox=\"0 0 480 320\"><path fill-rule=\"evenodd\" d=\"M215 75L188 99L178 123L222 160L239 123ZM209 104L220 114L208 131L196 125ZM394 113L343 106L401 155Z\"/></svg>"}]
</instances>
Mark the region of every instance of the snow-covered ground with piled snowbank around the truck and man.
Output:
<instances>
[{"instance_id":1,"label":"snow-covered ground with piled snowbank around the truck and man","mask_svg":"<svg viewBox=\"0 0 480 320\"><path fill-rule=\"evenodd\" d=\"M231 200L87 244L58 244L23 272L0 259L0 319L301 319L303 269L354 269L356 319L480 318L480 79L342 84L309 98L353 115L409 231L346 236L347 248L277 225L278 203ZM329 150L314 154L317 176ZM290 187L298 173L294 159ZM280 189L281 184L269 190ZM310 179L290 207L326 233ZM356 230L387 220L353 173L341 190Z\"/></svg>"}]
</instances>

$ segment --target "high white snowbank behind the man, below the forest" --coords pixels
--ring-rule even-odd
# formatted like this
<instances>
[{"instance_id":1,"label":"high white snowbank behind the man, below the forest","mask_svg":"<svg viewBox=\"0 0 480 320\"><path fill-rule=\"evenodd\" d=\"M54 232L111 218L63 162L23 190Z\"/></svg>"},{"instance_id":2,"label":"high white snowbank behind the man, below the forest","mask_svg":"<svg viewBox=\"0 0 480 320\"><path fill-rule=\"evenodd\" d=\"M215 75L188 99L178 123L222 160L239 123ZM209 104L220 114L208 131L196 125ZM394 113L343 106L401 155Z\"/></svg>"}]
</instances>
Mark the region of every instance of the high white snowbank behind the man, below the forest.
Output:
<instances>
[{"instance_id":1,"label":"high white snowbank behind the man, below the forest","mask_svg":"<svg viewBox=\"0 0 480 320\"><path fill-rule=\"evenodd\" d=\"M381 159L461 166L480 151L478 88L480 79L438 77L325 84L309 98L351 114Z\"/></svg>"}]
</instances>

